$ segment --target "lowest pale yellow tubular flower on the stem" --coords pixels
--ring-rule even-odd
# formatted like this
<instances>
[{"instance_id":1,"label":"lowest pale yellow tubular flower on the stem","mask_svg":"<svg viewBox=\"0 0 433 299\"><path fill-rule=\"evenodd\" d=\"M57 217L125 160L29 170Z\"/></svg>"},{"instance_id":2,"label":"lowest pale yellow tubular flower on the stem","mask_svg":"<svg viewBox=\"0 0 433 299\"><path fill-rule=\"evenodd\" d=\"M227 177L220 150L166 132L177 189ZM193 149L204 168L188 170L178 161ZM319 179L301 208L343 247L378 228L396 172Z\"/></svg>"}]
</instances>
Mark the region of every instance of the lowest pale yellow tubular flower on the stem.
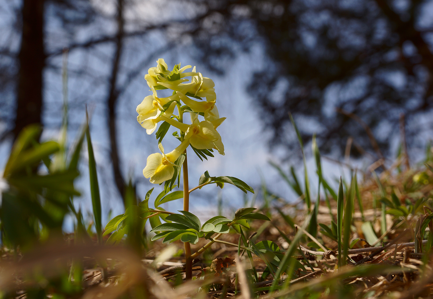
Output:
<instances>
[{"instance_id":1,"label":"lowest pale yellow tubular flower on the stem","mask_svg":"<svg viewBox=\"0 0 433 299\"><path fill-rule=\"evenodd\" d=\"M162 154L155 153L147 157L146 167L143 169L143 175L145 178L150 178L152 184L161 184L173 177L174 174L174 162L179 156L185 151L189 145L189 140L185 139L177 148L168 154L164 154L164 148L160 143L158 145L159 150Z\"/></svg>"}]
</instances>

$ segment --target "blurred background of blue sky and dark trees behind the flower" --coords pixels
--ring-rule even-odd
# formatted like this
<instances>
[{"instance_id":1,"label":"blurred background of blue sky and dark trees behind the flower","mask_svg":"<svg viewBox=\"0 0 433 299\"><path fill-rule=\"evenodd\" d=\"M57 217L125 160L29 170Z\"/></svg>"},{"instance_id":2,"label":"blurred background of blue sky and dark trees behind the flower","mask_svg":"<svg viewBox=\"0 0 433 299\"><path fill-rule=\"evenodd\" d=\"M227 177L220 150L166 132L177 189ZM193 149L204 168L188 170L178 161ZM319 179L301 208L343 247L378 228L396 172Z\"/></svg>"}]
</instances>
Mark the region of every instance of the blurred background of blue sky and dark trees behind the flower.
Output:
<instances>
[{"instance_id":1,"label":"blurred background of blue sky and dark trees behind the flower","mask_svg":"<svg viewBox=\"0 0 433 299\"><path fill-rule=\"evenodd\" d=\"M303 171L289 112L311 176L317 133L333 183L347 165L382 171L400 153L413 165L432 139L431 0L0 0L0 167L26 125L58 138L64 103L72 144L87 105L103 223L122 212L129 180L140 197L162 190L142 176L158 148L136 121L158 58L213 79L227 117L218 129L226 155L201 163L191 152L191 186L208 170L295 200L269 164ZM90 208L84 166L74 204ZM191 209L239 207L233 189L203 189Z\"/></svg>"}]
</instances>

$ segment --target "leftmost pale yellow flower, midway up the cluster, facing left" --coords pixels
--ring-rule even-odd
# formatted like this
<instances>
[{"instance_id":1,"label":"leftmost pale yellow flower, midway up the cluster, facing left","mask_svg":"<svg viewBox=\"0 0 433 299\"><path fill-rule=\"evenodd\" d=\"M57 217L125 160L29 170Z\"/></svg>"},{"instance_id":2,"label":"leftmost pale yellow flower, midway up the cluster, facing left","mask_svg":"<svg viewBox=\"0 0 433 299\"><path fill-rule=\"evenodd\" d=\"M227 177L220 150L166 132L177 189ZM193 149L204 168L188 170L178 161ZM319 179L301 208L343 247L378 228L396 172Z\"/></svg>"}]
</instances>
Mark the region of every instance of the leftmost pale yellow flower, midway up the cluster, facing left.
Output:
<instances>
[{"instance_id":1,"label":"leftmost pale yellow flower, midway up the cluster, facing left","mask_svg":"<svg viewBox=\"0 0 433 299\"><path fill-rule=\"evenodd\" d=\"M153 95L148 95L144 100L137 106L137 122L146 129L147 134L152 134L156 129L156 125L161 118L159 115L164 109L162 106L170 101L176 101L179 99L178 95L171 95L167 98L158 98L156 92ZM172 102L170 107L164 112L168 117L173 114L176 102Z\"/></svg>"}]
</instances>

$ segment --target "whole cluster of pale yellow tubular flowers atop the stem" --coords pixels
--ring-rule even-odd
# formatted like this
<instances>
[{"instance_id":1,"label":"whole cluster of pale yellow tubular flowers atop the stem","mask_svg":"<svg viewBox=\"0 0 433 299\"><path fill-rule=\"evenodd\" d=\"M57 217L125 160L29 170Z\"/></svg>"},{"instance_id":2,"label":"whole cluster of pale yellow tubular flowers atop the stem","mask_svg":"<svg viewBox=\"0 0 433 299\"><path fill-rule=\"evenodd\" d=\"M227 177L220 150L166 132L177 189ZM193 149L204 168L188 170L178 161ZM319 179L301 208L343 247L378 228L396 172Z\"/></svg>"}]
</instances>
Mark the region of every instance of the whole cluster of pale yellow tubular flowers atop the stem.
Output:
<instances>
[{"instance_id":1,"label":"whole cluster of pale yellow tubular flowers atop the stem","mask_svg":"<svg viewBox=\"0 0 433 299\"><path fill-rule=\"evenodd\" d=\"M216 128L226 118L220 118L215 105L215 84L200 72L196 72L195 66L192 72L185 72L190 68L191 66L181 68L178 64L173 70L169 70L164 59L158 59L158 65L150 68L144 77L152 95L146 96L137 106L137 121L146 129L147 134L155 131L158 122L165 121L180 130L181 140L181 144L168 154L164 153L160 143L158 147L162 154L151 154L147 158L143 175L150 178L153 184L161 184L173 177L174 167L178 166L174 162L189 145L198 150L216 149L220 154L224 154L224 145ZM187 77L191 77L191 80ZM159 98L157 90L160 89L171 89L173 95ZM175 107L178 108L178 115L174 114ZM184 112L190 112L191 125L183 122ZM203 115L204 120L200 121L199 115Z\"/></svg>"}]
</instances>

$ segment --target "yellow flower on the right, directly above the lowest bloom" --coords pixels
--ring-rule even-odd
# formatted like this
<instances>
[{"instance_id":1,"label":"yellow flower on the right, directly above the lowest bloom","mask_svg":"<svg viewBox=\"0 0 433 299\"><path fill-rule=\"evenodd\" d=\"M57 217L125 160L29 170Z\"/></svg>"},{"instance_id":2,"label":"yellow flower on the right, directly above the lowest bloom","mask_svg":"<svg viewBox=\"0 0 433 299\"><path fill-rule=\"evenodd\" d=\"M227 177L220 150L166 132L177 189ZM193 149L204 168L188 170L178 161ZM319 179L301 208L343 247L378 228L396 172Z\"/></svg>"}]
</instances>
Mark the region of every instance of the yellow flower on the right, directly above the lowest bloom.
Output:
<instances>
[{"instance_id":1,"label":"yellow flower on the right, directly above the lowest bloom","mask_svg":"<svg viewBox=\"0 0 433 299\"><path fill-rule=\"evenodd\" d=\"M195 113L191 113L191 125L175 121L174 119L165 116L162 116L162 119L184 132L185 140L189 139L194 148L215 148L220 154L224 155L223 141L221 141L220 134L215 130L215 125L220 125L225 118L218 119L218 121L215 122L215 125L207 120L199 122L198 115Z\"/></svg>"}]
</instances>

